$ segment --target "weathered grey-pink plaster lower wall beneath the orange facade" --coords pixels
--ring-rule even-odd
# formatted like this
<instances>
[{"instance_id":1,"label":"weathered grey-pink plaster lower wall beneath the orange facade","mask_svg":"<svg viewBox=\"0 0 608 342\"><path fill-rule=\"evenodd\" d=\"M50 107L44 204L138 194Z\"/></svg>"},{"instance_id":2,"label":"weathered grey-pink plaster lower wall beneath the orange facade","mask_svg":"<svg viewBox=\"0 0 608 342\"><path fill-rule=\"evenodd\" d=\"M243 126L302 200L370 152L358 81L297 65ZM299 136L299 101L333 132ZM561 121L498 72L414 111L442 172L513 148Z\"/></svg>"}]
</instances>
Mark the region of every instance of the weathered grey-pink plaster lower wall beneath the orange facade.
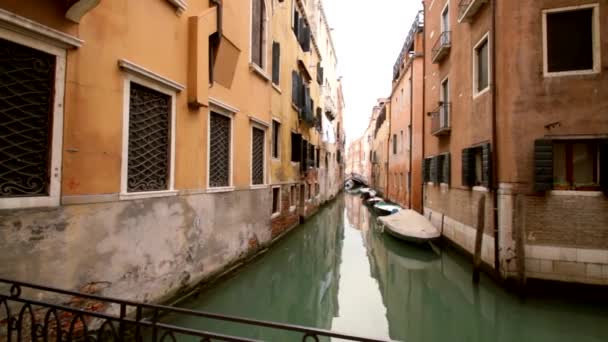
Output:
<instances>
[{"instance_id":1,"label":"weathered grey-pink plaster lower wall beneath the orange facade","mask_svg":"<svg viewBox=\"0 0 608 342\"><path fill-rule=\"evenodd\" d=\"M270 203L265 188L1 211L0 274L160 302L268 245Z\"/></svg>"}]
</instances>

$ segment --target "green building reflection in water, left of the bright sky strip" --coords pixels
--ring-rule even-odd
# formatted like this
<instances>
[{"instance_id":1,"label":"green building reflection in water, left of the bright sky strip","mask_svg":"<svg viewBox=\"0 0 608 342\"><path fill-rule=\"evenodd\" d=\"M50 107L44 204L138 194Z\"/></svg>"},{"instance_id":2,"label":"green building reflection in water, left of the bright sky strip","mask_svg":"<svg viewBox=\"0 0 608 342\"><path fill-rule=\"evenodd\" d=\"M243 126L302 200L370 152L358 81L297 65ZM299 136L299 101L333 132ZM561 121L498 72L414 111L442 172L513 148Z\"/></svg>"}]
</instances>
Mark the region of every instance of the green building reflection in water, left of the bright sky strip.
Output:
<instances>
[{"instance_id":1,"label":"green building reflection in water, left of the bright sky strip","mask_svg":"<svg viewBox=\"0 0 608 342\"><path fill-rule=\"evenodd\" d=\"M344 204L337 199L299 227L264 260L222 282L189 308L329 329L338 315L339 269L344 239ZM263 262L262 262L263 261ZM231 323L172 323L265 341L301 336Z\"/></svg>"}]
</instances>

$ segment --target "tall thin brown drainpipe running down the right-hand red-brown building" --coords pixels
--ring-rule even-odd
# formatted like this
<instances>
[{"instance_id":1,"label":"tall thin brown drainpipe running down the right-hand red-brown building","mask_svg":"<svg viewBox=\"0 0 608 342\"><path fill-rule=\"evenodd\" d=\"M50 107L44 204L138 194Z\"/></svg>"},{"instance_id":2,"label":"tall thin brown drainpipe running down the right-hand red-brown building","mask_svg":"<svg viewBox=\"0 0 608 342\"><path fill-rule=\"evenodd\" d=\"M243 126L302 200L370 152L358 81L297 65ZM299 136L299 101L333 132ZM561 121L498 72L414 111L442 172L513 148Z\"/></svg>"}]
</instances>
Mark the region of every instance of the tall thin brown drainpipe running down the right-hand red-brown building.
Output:
<instances>
[{"instance_id":1,"label":"tall thin brown drainpipe running down the right-hand red-brown building","mask_svg":"<svg viewBox=\"0 0 608 342\"><path fill-rule=\"evenodd\" d=\"M499 241L498 241L498 147L496 138L496 0L491 1L492 6L492 186L494 202L494 270L500 277Z\"/></svg>"}]
</instances>

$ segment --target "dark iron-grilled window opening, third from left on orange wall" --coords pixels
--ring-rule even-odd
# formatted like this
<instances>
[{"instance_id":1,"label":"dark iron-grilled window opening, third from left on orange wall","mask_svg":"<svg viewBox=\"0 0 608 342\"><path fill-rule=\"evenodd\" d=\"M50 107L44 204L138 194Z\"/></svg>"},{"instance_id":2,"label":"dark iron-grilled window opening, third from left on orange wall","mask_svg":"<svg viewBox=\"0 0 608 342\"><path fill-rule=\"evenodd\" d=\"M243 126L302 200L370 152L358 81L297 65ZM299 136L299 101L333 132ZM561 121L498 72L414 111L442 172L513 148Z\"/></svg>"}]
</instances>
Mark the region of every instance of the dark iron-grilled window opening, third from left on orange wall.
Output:
<instances>
[{"instance_id":1,"label":"dark iron-grilled window opening, third from left on orange wall","mask_svg":"<svg viewBox=\"0 0 608 342\"><path fill-rule=\"evenodd\" d=\"M230 186L232 119L211 112L209 119L209 186Z\"/></svg>"}]
</instances>

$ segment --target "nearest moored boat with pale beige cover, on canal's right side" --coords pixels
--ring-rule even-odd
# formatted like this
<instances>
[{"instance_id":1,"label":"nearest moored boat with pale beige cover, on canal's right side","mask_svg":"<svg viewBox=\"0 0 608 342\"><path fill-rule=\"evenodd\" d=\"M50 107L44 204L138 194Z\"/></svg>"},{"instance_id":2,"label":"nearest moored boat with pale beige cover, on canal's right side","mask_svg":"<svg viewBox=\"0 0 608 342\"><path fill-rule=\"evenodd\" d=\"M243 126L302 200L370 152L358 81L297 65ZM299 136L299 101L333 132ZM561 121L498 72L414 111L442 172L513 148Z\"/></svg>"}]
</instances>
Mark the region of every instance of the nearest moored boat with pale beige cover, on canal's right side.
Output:
<instances>
[{"instance_id":1,"label":"nearest moored boat with pale beige cover, on canal's right side","mask_svg":"<svg viewBox=\"0 0 608 342\"><path fill-rule=\"evenodd\" d=\"M441 237L439 230L414 210L401 210L379 220L384 225L385 232L401 240L426 243Z\"/></svg>"}]
</instances>

